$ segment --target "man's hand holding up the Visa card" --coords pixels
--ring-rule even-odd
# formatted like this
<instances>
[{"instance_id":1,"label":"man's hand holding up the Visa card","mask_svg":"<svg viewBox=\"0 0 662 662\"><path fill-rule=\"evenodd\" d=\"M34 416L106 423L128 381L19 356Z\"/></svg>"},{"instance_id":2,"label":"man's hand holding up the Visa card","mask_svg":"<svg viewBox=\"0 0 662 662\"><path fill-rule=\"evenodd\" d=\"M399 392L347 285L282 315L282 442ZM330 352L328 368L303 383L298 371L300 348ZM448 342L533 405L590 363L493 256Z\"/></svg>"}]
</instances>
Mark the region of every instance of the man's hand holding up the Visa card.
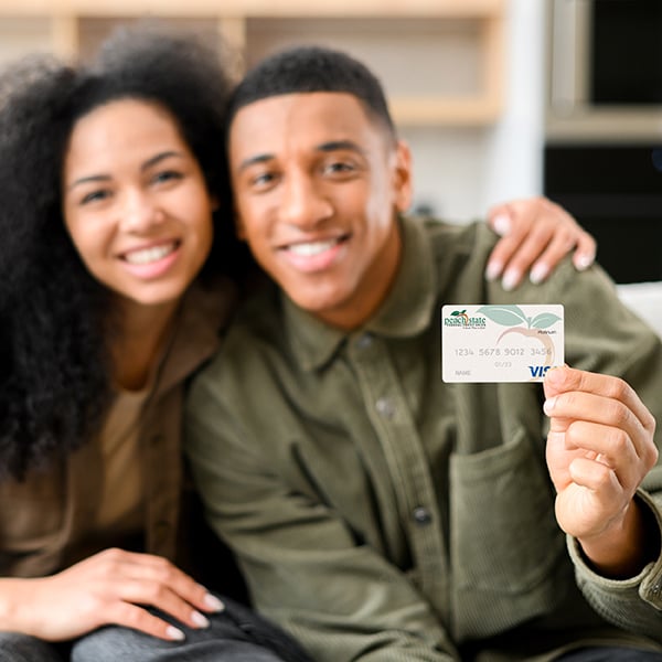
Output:
<instances>
[{"instance_id":1,"label":"man's hand holding up the Visa card","mask_svg":"<svg viewBox=\"0 0 662 662\"><path fill-rule=\"evenodd\" d=\"M650 560L633 496L658 461L655 420L618 377L558 367L544 389L558 524L601 573L632 576Z\"/></svg>"}]
</instances>

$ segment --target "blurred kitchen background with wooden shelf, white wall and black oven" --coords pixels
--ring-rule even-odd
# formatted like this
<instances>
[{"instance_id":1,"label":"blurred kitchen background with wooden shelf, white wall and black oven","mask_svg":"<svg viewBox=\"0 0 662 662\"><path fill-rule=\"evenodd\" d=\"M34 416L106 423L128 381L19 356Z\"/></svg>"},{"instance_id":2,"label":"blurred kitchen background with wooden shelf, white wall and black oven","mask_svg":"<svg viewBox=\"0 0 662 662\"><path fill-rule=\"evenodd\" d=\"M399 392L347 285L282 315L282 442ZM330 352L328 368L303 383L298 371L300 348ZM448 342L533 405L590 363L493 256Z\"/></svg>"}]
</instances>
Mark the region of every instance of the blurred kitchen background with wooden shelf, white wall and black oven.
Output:
<instances>
[{"instance_id":1,"label":"blurred kitchen background with wooden shelf, white wall and black oven","mask_svg":"<svg viewBox=\"0 0 662 662\"><path fill-rule=\"evenodd\" d=\"M544 193L618 282L662 280L662 0L0 0L0 64L85 56L159 17L235 49L291 43L381 77L415 159L415 206L453 222Z\"/></svg>"}]
</instances>

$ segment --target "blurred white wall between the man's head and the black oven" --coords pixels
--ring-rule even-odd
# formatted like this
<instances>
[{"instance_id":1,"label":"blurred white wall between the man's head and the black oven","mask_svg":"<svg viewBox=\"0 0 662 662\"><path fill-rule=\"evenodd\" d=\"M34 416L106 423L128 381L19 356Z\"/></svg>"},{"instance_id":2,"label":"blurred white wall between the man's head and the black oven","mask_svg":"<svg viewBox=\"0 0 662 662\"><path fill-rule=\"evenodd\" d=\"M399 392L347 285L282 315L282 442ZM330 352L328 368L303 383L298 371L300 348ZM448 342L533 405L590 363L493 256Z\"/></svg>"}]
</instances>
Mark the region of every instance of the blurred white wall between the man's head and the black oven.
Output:
<instances>
[{"instance_id":1,"label":"blurred white wall between the man's head and the black oven","mask_svg":"<svg viewBox=\"0 0 662 662\"><path fill-rule=\"evenodd\" d=\"M509 0L504 108L484 129L409 129L416 204L467 222L503 200L540 194L544 142L545 3Z\"/></svg>"}]
</instances>

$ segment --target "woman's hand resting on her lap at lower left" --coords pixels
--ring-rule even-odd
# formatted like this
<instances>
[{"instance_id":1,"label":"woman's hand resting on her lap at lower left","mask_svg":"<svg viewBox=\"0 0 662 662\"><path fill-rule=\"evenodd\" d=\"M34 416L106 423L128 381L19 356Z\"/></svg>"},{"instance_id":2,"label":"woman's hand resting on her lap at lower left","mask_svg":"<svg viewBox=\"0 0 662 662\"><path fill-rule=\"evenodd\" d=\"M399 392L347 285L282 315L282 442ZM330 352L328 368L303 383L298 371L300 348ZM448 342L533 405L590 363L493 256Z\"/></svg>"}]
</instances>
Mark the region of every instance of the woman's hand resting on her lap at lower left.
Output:
<instances>
[{"instance_id":1,"label":"woman's hand resting on her lap at lower left","mask_svg":"<svg viewBox=\"0 0 662 662\"><path fill-rule=\"evenodd\" d=\"M157 607L191 628L222 602L164 558L106 549L53 575L0 580L0 629L63 641L107 624L170 641L184 633L150 613Z\"/></svg>"}]
</instances>

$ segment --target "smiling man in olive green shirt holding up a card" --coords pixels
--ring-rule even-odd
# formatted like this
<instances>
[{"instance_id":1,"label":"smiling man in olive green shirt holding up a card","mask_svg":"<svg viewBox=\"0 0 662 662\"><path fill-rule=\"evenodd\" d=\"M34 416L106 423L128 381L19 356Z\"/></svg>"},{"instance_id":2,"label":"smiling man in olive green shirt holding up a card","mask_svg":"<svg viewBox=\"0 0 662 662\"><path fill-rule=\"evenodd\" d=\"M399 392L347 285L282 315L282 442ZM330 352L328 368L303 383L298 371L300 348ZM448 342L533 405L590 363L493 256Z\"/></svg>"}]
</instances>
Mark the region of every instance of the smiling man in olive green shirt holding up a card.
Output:
<instances>
[{"instance_id":1,"label":"smiling man in olive green shirt holding up a card","mask_svg":"<svg viewBox=\"0 0 662 662\"><path fill-rule=\"evenodd\" d=\"M229 167L275 282L194 384L188 451L257 607L329 662L662 660L662 346L604 274L508 292L484 225L404 217L409 153L341 53L248 74ZM574 367L444 383L446 302L563 303Z\"/></svg>"}]
</instances>

